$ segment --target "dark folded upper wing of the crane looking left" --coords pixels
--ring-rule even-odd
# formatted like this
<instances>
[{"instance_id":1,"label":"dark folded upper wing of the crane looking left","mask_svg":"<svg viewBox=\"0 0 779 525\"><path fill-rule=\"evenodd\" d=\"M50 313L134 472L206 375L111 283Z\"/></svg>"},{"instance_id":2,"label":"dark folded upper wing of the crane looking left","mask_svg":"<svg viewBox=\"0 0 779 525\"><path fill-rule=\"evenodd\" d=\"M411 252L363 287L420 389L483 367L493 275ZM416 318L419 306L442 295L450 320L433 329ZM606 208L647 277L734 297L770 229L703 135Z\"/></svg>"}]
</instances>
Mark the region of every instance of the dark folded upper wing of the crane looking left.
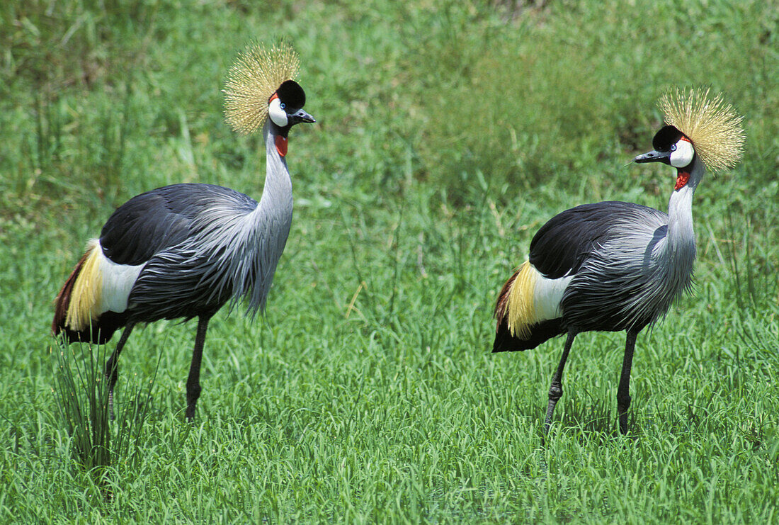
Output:
<instances>
[{"instance_id":1,"label":"dark folded upper wing of the crane looking left","mask_svg":"<svg viewBox=\"0 0 779 525\"><path fill-rule=\"evenodd\" d=\"M634 216L636 208L643 207L606 201L583 204L555 215L530 241L530 264L549 279L578 272L594 247L608 238L615 220Z\"/></svg>"}]
</instances>

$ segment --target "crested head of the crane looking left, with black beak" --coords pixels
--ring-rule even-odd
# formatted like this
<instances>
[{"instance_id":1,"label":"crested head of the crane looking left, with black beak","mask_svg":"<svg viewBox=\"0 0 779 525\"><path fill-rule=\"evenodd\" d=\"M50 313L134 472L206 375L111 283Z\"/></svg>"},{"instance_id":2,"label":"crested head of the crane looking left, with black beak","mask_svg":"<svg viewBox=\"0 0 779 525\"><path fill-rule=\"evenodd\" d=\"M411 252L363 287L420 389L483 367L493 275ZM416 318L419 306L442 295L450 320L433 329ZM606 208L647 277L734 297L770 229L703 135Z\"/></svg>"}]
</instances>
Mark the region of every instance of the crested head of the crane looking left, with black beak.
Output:
<instances>
[{"instance_id":1,"label":"crested head of the crane looking left, with black beak","mask_svg":"<svg viewBox=\"0 0 779 525\"><path fill-rule=\"evenodd\" d=\"M634 158L637 163L662 162L690 171L696 160L719 171L738 164L744 146L743 118L709 90L679 89L665 93L658 104L667 125L652 139L653 151Z\"/></svg>"}]
</instances>

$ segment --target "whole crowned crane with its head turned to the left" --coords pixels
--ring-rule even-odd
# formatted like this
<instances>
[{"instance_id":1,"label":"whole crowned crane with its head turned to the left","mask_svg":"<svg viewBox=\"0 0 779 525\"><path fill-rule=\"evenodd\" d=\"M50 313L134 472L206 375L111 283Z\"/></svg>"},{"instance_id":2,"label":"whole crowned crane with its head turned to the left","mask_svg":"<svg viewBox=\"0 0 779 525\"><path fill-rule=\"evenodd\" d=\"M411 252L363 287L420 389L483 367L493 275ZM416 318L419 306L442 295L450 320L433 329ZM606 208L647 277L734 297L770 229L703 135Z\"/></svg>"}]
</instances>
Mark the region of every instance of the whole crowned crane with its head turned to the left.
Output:
<instances>
[{"instance_id":1,"label":"whole crowned crane with its head turned to the left","mask_svg":"<svg viewBox=\"0 0 779 525\"><path fill-rule=\"evenodd\" d=\"M562 396L562 369L576 334L626 330L617 389L619 430L627 433L636 336L689 291L695 259L693 193L708 170L738 163L742 118L709 90L671 90L659 103L667 123L636 163L676 168L668 214L633 203L583 204L552 217L495 305L493 352L523 351L567 334L549 387L544 433Z\"/></svg>"}]
</instances>

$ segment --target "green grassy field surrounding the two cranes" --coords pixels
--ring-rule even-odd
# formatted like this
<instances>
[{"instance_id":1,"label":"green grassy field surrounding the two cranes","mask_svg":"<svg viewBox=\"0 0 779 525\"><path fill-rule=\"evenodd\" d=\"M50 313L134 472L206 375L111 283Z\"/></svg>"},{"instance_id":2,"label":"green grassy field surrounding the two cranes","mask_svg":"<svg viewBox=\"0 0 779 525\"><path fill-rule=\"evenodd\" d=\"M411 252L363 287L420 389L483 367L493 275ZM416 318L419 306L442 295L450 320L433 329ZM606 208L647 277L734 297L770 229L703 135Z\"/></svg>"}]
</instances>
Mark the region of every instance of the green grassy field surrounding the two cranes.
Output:
<instances>
[{"instance_id":1,"label":"green grassy field surrounding the two cranes","mask_svg":"<svg viewBox=\"0 0 779 525\"><path fill-rule=\"evenodd\" d=\"M530 3L5 2L0 520L779 521L779 8ZM249 38L283 36L319 123L291 137L266 316L211 322L195 425L194 323L133 333L118 417L154 378L150 412L99 484L57 416L51 300L136 193L259 197L258 139L221 121L220 81ZM624 336L591 333L544 445L562 340L490 354L495 294L554 213L664 209L670 168L626 164L674 84L726 93L746 157L696 194L695 294L640 335L629 439Z\"/></svg>"}]
</instances>

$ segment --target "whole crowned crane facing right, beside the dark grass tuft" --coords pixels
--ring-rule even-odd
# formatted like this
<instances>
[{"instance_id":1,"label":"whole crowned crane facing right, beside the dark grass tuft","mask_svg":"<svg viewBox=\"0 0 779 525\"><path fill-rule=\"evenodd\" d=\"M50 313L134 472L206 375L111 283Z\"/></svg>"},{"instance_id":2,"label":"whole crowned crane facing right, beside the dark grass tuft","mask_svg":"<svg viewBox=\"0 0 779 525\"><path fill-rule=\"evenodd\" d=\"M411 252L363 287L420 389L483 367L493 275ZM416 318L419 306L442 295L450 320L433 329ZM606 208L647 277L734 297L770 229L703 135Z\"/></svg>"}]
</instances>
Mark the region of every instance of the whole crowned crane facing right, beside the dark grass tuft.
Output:
<instances>
[{"instance_id":1,"label":"whole crowned crane facing right, beside the dark grass tuft","mask_svg":"<svg viewBox=\"0 0 779 525\"><path fill-rule=\"evenodd\" d=\"M209 184L176 184L135 196L104 225L55 300L51 329L66 342L104 344L125 327L108 358L108 403L122 348L139 322L198 318L187 379L186 418L200 395L200 361L211 316L244 299L247 314L265 308L292 220L287 134L300 122L305 92L294 81L298 55L288 44L250 44L224 84L227 123L241 134L263 130L266 178L254 199Z\"/></svg>"}]
</instances>

